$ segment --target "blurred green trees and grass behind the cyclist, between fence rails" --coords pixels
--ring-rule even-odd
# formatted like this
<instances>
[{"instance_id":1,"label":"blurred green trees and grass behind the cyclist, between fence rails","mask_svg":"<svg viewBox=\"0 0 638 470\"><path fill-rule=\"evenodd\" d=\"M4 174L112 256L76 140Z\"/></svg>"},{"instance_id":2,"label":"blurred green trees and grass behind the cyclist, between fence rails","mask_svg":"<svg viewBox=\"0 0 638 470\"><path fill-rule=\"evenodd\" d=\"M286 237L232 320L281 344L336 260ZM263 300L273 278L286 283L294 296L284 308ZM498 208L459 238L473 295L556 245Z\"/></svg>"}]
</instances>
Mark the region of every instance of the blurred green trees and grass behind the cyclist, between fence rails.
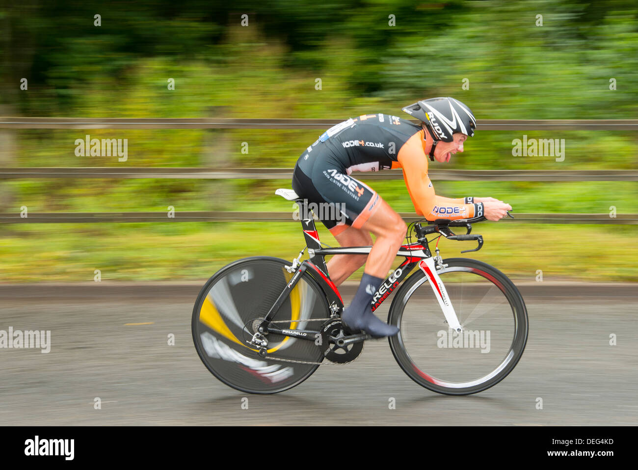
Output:
<instances>
[{"instance_id":1,"label":"blurred green trees and grass behind the cyclist, between fence rails","mask_svg":"<svg viewBox=\"0 0 638 470\"><path fill-rule=\"evenodd\" d=\"M3 3L0 115L408 118L404 105L454 96L479 120L635 119L637 14L629 0ZM0 128L0 167L292 169L322 132ZM74 142L86 134L128 139L128 159L76 156ZM565 139L565 160L513 156L512 140L523 135ZM631 131L479 128L463 154L431 169L635 169L636 150ZM396 211L413 211L403 181L361 179ZM447 197L496 197L514 214L638 212L635 181L433 183ZM292 204L274 195L279 187L290 181L7 179L0 180L0 212L174 206L290 211L292 220ZM472 257L515 279L534 281L541 270L544 280L638 280L636 225L486 222L475 232L486 243ZM290 259L303 245L296 222L0 224L0 282L91 281L94 269L102 280L198 280L239 257ZM442 241L441 254L470 248L459 245Z\"/></svg>"}]
</instances>

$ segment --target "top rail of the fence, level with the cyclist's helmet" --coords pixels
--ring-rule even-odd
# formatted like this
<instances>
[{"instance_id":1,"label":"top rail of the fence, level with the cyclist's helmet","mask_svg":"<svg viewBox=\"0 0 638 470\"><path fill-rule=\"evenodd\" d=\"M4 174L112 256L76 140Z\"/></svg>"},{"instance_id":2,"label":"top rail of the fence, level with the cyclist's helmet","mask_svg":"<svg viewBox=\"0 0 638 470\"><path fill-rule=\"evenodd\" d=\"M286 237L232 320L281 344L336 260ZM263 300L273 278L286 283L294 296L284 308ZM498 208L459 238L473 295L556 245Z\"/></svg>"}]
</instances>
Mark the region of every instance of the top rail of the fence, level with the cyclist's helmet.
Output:
<instances>
[{"instance_id":1,"label":"top rail of the fence, level with the cyclist's helmet","mask_svg":"<svg viewBox=\"0 0 638 470\"><path fill-rule=\"evenodd\" d=\"M0 117L9 129L322 129L344 119ZM414 121L415 123L419 121ZM638 130L638 119L479 119L479 130Z\"/></svg>"}]
</instances>

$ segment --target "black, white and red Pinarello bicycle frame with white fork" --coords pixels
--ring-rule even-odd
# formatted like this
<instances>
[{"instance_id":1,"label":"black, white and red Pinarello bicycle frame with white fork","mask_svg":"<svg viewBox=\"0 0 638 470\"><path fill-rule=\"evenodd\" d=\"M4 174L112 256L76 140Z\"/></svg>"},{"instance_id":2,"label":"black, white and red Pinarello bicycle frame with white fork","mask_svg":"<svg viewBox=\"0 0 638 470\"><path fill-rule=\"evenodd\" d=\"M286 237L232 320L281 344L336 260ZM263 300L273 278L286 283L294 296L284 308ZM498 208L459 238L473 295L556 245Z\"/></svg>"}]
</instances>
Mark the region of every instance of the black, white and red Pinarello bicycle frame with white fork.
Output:
<instances>
[{"instance_id":1,"label":"black, white and red Pinarello bicycle frame with white fork","mask_svg":"<svg viewBox=\"0 0 638 470\"><path fill-rule=\"evenodd\" d=\"M281 330L278 328L274 328L271 324L271 321L274 320L274 314L278 312L279 308L281 308L281 305L283 305L285 299L288 297L295 285L297 285L297 282L299 282L299 278L301 277L301 275L306 271L308 271L311 277L313 277L313 279L315 279L322 288L323 293L328 299L331 314L334 315L338 314L338 312L341 312L344 307L343 299L341 299L341 294L339 294L339 291L336 285L334 285L334 282L330 280L328 269L325 264L325 257L337 254L369 254L372 246L322 248L319 241L319 234L316 230L315 220L313 219L311 211L308 211L306 204L304 204L302 200L295 200L295 202L299 204L300 215L303 215L301 223L304 237L306 239L306 249L308 249L309 259L301 262L298 268L296 266L296 263L293 262L293 265L290 267L292 269L288 270L290 272L294 272L295 274L290 279L290 282L288 282L288 285L286 285L285 289L283 289L281 294L279 294L279 297L275 301L274 305L272 305L268 314L263 319L263 322L260 324L258 330L261 333L277 333L280 335L283 334L290 337L314 341L316 339L316 335L320 333L320 331ZM482 243L482 240L480 243ZM427 280L429 281L429 284L434 291L434 295L438 299L439 305L441 307L441 310L443 311L443 315L445 316L449 327L459 332L463 331L463 328L461 327L461 324L459 323L459 320L457 318L456 312L454 311L454 307L452 307L450 298L447 295L445 285L443 285L441 278L436 273L434 257L429 250L426 237L423 236L414 243L401 245L401 248L399 248L396 255L404 256L405 260L387 278L385 278L382 285L375 292L375 294L373 294L371 310L374 312L376 308L380 307L383 301L385 301L385 299L388 298L388 296L394 291L394 289L396 289L396 287L398 287L399 284L403 282L408 274L410 274L412 269L414 269L415 266L418 265L419 268L425 273ZM301 254L299 255L299 257L300 256Z\"/></svg>"}]
</instances>

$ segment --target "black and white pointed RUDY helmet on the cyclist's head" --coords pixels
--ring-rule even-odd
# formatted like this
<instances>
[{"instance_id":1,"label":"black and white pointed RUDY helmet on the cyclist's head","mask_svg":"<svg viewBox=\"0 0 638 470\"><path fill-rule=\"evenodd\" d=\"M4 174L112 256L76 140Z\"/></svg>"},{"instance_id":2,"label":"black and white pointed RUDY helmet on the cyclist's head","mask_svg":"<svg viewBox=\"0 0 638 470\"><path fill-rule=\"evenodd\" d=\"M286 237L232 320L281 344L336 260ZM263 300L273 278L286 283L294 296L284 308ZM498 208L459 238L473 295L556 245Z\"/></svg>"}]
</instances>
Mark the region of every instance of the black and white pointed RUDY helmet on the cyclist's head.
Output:
<instances>
[{"instance_id":1,"label":"black and white pointed RUDY helmet on the cyclist's head","mask_svg":"<svg viewBox=\"0 0 638 470\"><path fill-rule=\"evenodd\" d=\"M470 108L454 98L431 98L403 108L410 116L425 123L434 142L452 142L452 134L461 132L472 137L477 120Z\"/></svg>"}]
</instances>

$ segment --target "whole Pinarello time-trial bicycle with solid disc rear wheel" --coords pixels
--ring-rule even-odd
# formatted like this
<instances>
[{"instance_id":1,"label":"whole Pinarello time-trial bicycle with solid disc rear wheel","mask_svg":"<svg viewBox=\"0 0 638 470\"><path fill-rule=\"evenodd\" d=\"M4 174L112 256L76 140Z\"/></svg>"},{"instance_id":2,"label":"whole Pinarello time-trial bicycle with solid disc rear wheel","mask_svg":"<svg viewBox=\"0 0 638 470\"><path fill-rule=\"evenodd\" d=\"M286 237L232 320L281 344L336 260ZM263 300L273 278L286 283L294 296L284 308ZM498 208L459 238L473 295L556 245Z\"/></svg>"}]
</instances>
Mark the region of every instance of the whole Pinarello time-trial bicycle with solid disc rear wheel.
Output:
<instances>
[{"instance_id":1,"label":"whole Pinarello time-trial bicycle with solid disc rear wheel","mask_svg":"<svg viewBox=\"0 0 638 470\"><path fill-rule=\"evenodd\" d=\"M322 247L306 201L288 189L276 194L299 205L306 247L292 263L256 256L228 264L206 282L193 308L193 341L204 365L223 383L248 393L288 390L321 364L355 360L371 339L350 333L341 321L343 299L324 258L366 254L372 247ZM396 291L388 322L400 331L389 338L390 349L413 381L446 395L486 390L523 355L528 336L523 297L489 264L441 259L441 236L477 241L477 248L461 253L482 248L483 238L470 233L471 224L421 222L408 225L407 243L397 251L404 261L375 292L371 309ZM450 227L465 227L466 233L457 235ZM433 255L429 245L435 239ZM309 259L300 261L306 250Z\"/></svg>"}]
</instances>

